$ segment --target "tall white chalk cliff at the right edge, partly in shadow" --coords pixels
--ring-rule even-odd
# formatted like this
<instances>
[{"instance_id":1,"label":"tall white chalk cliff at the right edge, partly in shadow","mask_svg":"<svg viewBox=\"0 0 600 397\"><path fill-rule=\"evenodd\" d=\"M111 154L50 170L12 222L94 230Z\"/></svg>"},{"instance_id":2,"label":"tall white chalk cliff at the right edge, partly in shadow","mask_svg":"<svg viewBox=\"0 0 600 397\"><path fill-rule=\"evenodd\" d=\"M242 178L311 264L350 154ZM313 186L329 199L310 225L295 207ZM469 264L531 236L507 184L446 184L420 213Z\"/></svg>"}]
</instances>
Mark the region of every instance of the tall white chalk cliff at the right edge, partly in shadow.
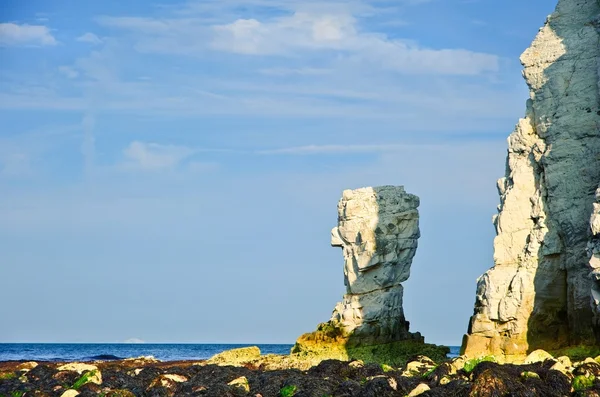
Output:
<instances>
[{"instance_id":1,"label":"tall white chalk cliff at the right edge, partly in shadow","mask_svg":"<svg viewBox=\"0 0 600 397\"><path fill-rule=\"evenodd\" d=\"M518 361L596 343L599 15L597 0L560 0L521 56L530 100L508 139L494 267L478 280L467 355Z\"/></svg>"}]
</instances>

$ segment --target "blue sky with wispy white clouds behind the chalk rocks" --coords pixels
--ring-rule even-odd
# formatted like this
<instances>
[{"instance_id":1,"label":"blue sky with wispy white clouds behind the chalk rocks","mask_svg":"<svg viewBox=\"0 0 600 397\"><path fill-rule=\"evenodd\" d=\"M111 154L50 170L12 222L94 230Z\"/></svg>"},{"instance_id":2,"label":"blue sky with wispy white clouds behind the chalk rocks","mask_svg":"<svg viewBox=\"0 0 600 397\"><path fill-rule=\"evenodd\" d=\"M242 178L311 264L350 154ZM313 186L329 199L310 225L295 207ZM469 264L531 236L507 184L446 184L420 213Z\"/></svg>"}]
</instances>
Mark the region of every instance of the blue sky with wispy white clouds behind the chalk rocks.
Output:
<instances>
[{"instance_id":1,"label":"blue sky with wispy white clouds behind the chalk rocks","mask_svg":"<svg viewBox=\"0 0 600 397\"><path fill-rule=\"evenodd\" d=\"M404 185L406 317L460 344L555 0L2 4L0 342L293 343L342 191Z\"/></svg>"}]
</instances>

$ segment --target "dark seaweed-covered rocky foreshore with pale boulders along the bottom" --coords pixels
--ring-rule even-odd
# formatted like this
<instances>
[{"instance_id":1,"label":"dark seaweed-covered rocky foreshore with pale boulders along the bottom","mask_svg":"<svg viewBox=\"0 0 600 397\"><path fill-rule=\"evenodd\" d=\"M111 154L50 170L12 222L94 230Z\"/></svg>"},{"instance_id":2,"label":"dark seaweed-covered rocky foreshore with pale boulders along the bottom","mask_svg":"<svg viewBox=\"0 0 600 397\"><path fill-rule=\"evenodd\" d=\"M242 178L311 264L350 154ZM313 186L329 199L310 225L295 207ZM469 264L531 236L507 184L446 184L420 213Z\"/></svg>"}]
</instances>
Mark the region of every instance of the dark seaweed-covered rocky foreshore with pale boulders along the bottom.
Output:
<instances>
[{"instance_id":1,"label":"dark seaweed-covered rocky foreshore with pale boulders along the bottom","mask_svg":"<svg viewBox=\"0 0 600 397\"><path fill-rule=\"evenodd\" d=\"M1 362L0 396L600 396L600 357L572 361L538 350L521 365L417 355L402 367L325 360L301 369L289 356L257 352L204 361Z\"/></svg>"}]
</instances>

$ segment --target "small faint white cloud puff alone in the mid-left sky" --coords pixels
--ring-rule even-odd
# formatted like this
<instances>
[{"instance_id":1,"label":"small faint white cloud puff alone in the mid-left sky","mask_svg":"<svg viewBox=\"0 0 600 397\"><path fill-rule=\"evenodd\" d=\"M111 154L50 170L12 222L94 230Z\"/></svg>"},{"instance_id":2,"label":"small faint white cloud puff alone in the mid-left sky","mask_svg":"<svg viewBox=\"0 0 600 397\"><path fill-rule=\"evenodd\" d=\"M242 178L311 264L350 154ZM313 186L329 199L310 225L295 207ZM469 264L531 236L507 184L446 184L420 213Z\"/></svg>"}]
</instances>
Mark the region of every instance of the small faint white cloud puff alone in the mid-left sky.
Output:
<instances>
[{"instance_id":1,"label":"small faint white cloud puff alone in the mid-left sky","mask_svg":"<svg viewBox=\"0 0 600 397\"><path fill-rule=\"evenodd\" d=\"M177 167L195 151L185 146L160 145L134 141L123 151L126 165L144 170L160 170Z\"/></svg>"}]
</instances>

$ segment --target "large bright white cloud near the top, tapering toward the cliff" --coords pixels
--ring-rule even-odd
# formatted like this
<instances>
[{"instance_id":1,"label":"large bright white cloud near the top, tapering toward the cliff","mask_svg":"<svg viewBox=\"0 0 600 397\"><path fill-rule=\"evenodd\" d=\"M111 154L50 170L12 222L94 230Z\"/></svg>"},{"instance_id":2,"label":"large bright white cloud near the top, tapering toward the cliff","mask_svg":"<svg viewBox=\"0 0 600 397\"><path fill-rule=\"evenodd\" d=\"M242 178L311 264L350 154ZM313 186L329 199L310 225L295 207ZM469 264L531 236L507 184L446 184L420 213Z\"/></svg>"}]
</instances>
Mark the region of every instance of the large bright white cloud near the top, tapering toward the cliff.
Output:
<instances>
[{"instance_id":1,"label":"large bright white cloud near the top, tapering toward the cliff","mask_svg":"<svg viewBox=\"0 0 600 397\"><path fill-rule=\"evenodd\" d=\"M295 55L298 51L342 51L354 60L417 74L475 75L496 72L496 55L464 49L430 49L383 34L360 32L351 15L297 12L261 23L238 19L214 27L215 49L249 55Z\"/></svg>"}]
</instances>

